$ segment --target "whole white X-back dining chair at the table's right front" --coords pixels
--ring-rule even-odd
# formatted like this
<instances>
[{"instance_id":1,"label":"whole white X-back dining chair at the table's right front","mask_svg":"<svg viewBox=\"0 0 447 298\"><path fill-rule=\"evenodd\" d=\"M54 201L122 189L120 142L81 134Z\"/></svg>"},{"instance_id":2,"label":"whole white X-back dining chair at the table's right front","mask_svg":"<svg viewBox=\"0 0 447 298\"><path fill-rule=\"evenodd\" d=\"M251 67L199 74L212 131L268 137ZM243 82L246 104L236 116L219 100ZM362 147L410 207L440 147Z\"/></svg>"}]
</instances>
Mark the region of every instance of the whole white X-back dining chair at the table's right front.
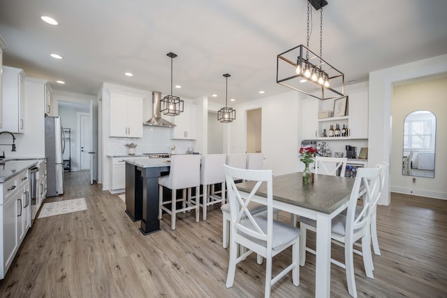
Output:
<instances>
[{"instance_id":1,"label":"whole white X-back dining chair at the table's right front","mask_svg":"<svg viewBox=\"0 0 447 298\"><path fill-rule=\"evenodd\" d=\"M354 278L353 253L360 253L363 258L366 275L374 278L372 273L371 254L371 205L372 200L380 192L380 168L358 169L356 180L351 191L346 215L339 214L332 219L331 239L332 243L344 247L344 264L331 259L331 262L346 269L346 281L348 292L352 297L357 297L356 280ZM358 212L357 201L362 197L362 205ZM357 211L357 212L356 212ZM300 264L305 265L306 252L315 254L315 250L307 247L307 230L316 232L316 221L309 218L300 218L302 239L300 244ZM361 239L362 251L353 248L354 243Z\"/></svg>"}]
</instances>

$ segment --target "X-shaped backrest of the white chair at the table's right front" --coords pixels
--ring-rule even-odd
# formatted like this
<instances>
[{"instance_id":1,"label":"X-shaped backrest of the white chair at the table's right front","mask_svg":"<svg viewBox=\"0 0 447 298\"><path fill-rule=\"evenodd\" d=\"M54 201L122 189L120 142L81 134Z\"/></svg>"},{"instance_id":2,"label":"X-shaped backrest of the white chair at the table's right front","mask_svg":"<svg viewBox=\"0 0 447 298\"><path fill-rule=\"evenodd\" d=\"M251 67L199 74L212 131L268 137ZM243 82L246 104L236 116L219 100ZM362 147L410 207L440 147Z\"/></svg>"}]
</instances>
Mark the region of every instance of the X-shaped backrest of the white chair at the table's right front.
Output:
<instances>
[{"instance_id":1,"label":"X-shaped backrest of the white chair at the table's right front","mask_svg":"<svg viewBox=\"0 0 447 298\"><path fill-rule=\"evenodd\" d=\"M359 168L346 213L346 243L353 243L369 230L372 200L380 191L380 168ZM362 198L360 210L358 199ZM358 233L359 235L355 235Z\"/></svg>"}]
</instances>

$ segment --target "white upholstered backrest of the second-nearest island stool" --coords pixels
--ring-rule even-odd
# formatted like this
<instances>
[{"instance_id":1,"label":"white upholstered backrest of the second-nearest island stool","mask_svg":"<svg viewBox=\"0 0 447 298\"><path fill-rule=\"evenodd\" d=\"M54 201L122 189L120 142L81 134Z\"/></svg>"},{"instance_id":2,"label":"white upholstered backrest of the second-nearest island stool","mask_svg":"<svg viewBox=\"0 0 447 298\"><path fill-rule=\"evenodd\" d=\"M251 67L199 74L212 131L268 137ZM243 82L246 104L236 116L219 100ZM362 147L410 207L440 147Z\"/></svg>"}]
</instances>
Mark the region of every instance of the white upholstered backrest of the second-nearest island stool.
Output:
<instances>
[{"instance_id":1,"label":"white upholstered backrest of the second-nearest island stool","mask_svg":"<svg viewBox=\"0 0 447 298\"><path fill-rule=\"evenodd\" d=\"M210 185L225 182L225 173L223 173L223 164L225 162L225 154L202 155L200 184Z\"/></svg>"}]
</instances>

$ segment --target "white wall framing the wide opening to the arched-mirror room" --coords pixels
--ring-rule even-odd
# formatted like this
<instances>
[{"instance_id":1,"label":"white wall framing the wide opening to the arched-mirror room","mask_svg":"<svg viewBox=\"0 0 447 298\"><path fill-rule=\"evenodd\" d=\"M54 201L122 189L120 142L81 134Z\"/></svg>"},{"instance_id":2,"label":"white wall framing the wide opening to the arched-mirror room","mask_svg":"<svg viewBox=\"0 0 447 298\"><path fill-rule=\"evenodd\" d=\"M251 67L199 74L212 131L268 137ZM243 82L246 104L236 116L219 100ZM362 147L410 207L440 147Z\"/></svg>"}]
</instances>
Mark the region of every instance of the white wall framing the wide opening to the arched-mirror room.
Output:
<instances>
[{"instance_id":1,"label":"white wall framing the wide opening to the arched-mirror room","mask_svg":"<svg viewBox=\"0 0 447 298\"><path fill-rule=\"evenodd\" d=\"M447 55L369 73L369 164L388 162L391 166L394 162L390 160L393 83L445 72L447 72ZM397 162L402 162L402 160ZM379 204L390 204L389 173L386 176L386 185Z\"/></svg>"}]
</instances>

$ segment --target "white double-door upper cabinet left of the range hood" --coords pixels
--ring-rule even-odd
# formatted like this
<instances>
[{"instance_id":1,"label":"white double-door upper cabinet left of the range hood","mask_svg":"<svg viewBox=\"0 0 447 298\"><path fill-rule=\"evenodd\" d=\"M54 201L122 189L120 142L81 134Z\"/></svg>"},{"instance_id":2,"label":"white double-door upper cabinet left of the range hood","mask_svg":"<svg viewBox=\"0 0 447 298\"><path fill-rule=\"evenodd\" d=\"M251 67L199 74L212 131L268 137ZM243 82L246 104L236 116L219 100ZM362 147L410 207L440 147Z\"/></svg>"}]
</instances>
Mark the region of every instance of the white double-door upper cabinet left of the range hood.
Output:
<instances>
[{"instance_id":1,"label":"white double-door upper cabinet left of the range hood","mask_svg":"<svg viewBox=\"0 0 447 298\"><path fill-rule=\"evenodd\" d=\"M110 94L110 136L142 137L142 97Z\"/></svg>"}]
</instances>

